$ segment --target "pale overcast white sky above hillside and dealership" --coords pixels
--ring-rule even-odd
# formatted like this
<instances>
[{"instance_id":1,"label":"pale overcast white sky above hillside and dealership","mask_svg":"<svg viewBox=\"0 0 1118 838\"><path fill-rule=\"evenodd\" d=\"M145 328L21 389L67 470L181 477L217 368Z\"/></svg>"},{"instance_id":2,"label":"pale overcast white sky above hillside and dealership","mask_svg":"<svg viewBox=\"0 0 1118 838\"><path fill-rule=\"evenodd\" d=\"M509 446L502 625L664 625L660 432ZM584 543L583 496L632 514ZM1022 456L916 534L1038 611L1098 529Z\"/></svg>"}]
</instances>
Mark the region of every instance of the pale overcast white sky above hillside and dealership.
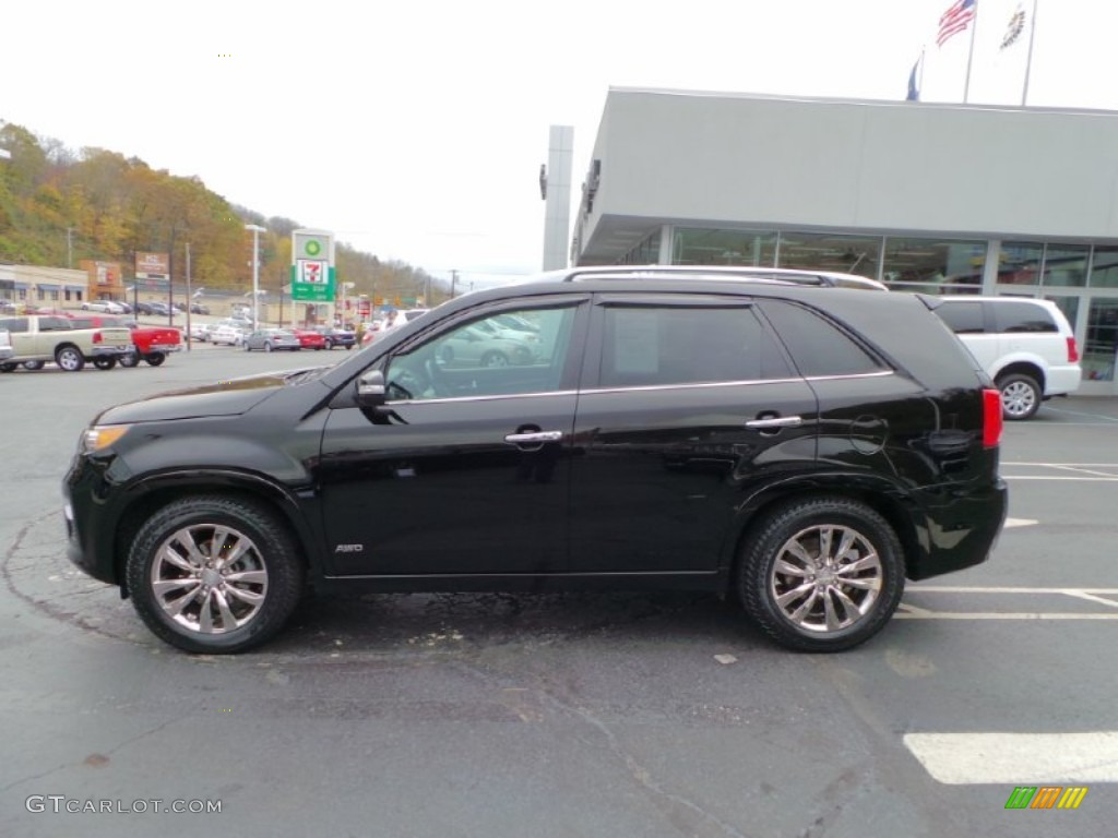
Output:
<instances>
[{"instance_id":1,"label":"pale overcast white sky above hillside and dealership","mask_svg":"<svg viewBox=\"0 0 1118 838\"><path fill-rule=\"evenodd\" d=\"M1118 111L1118 4L1035 2L1026 104ZM0 122L492 285L540 269L551 125L575 130L577 210L610 87L898 101L922 54L926 101L966 87L972 104L1020 105L1029 42L998 42L1033 0L977 0L939 47L950 4L16 2L0 12Z\"/></svg>"}]
</instances>

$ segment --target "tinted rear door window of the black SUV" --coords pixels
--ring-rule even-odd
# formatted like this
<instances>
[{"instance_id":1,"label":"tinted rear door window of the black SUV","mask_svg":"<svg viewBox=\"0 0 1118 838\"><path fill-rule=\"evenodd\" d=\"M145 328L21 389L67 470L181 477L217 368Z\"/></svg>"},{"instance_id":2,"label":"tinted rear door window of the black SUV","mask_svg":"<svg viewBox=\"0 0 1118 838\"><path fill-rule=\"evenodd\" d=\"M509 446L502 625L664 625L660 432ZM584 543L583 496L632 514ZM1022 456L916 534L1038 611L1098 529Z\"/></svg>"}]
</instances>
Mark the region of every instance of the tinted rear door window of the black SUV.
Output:
<instances>
[{"instance_id":1,"label":"tinted rear door window of the black SUV","mask_svg":"<svg viewBox=\"0 0 1118 838\"><path fill-rule=\"evenodd\" d=\"M603 387L787 378L792 371L751 307L608 306Z\"/></svg>"}]
</instances>

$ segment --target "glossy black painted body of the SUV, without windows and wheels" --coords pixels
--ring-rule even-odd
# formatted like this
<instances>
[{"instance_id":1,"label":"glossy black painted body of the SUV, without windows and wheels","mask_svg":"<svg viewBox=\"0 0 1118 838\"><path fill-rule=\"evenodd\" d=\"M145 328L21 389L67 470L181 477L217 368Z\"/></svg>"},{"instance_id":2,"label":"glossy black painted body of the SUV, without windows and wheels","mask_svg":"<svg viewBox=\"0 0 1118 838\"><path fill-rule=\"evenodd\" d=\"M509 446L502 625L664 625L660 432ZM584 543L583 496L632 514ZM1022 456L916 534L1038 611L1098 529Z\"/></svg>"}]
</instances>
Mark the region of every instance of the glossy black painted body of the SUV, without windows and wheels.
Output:
<instances>
[{"instance_id":1,"label":"glossy black painted body of the SUV, without windows and wheels","mask_svg":"<svg viewBox=\"0 0 1118 838\"><path fill-rule=\"evenodd\" d=\"M802 377L792 354L776 353L759 380L601 387L600 305L650 286L684 303L702 294L703 305L818 306L866 336L885 369ZM105 411L100 422L130 430L75 457L72 558L119 583L138 520L171 497L230 492L282 513L320 583L380 589L719 588L759 512L817 492L882 512L912 578L986 558L1006 495L997 450L982 446L983 378L916 298L700 280L585 282L577 292L560 283L472 295L331 368ZM394 352L489 306L557 299L579 308L574 372L557 391L357 407L357 377ZM774 417L800 422L746 425ZM539 430L562 437L505 441Z\"/></svg>"}]
</instances>

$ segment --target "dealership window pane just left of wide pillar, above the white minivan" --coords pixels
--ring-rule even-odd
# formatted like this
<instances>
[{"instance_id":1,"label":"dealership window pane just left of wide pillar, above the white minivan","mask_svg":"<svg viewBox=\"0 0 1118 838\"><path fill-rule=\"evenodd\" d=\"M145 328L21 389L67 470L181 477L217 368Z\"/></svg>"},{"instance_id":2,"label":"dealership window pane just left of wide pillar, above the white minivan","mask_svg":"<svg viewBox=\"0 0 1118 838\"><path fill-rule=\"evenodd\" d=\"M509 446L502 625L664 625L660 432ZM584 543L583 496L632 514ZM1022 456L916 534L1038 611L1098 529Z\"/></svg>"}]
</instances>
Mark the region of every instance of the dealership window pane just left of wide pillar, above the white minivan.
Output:
<instances>
[{"instance_id":1,"label":"dealership window pane just left of wide pillar, above the white minivan","mask_svg":"<svg viewBox=\"0 0 1118 838\"><path fill-rule=\"evenodd\" d=\"M890 236L882 267L882 278L896 291L978 293L986 268L986 242Z\"/></svg>"}]
</instances>

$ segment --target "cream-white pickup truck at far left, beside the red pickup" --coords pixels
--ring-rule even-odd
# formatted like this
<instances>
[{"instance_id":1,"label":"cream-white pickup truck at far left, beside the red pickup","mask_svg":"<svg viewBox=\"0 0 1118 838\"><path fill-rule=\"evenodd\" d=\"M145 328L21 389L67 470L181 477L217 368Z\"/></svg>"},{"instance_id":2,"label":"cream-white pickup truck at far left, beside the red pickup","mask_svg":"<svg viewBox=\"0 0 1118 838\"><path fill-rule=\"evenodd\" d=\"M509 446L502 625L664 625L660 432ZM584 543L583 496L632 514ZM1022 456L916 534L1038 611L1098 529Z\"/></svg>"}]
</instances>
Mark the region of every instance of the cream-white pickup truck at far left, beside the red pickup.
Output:
<instances>
[{"instance_id":1,"label":"cream-white pickup truck at far left, beside the red pickup","mask_svg":"<svg viewBox=\"0 0 1118 838\"><path fill-rule=\"evenodd\" d=\"M133 349L132 332L123 326L73 328L69 320L56 315L0 317L0 330L9 333L13 350L10 358L0 360L0 372L20 364L38 370L48 361L67 372L77 372L86 361L108 370Z\"/></svg>"}]
</instances>

